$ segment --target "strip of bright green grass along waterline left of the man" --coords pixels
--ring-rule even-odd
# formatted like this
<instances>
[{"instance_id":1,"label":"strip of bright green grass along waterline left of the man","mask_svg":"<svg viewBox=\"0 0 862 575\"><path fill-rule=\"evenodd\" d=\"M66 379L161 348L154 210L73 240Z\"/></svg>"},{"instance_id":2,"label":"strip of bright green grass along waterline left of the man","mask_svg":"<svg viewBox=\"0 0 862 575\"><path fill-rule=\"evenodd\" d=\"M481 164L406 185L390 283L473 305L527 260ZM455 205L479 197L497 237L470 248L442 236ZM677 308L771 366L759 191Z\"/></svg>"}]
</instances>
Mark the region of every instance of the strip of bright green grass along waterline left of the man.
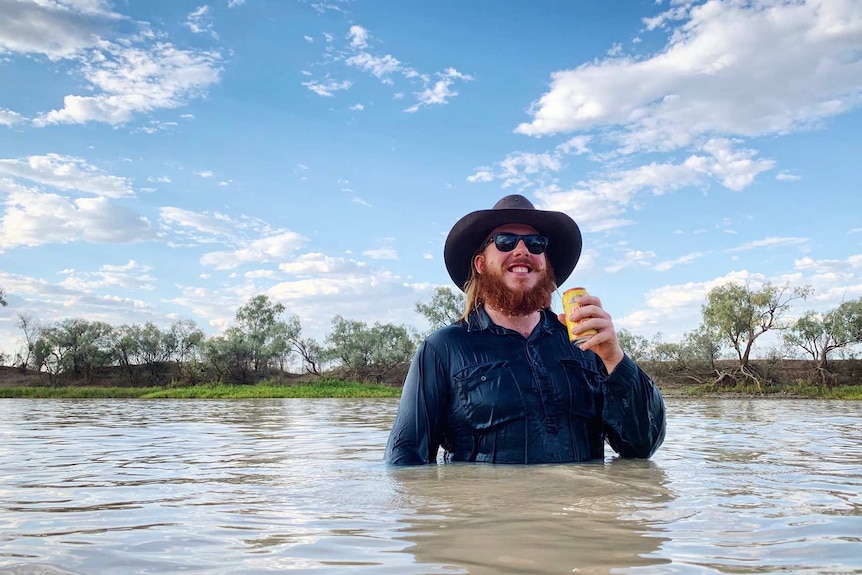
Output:
<instances>
[{"instance_id":1,"label":"strip of bright green grass along waterline left of the man","mask_svg":"<svg viewBox=\"0 0 862 575\"><path fill-rule=\"evenodd\" d=\"M8 387L0 398L63 399L255 399L316 397L400 397L401 389L387 385L321 380L298 385L261 382L256 385L207 383L189 387Z\"/></svg>"}]
</instances>

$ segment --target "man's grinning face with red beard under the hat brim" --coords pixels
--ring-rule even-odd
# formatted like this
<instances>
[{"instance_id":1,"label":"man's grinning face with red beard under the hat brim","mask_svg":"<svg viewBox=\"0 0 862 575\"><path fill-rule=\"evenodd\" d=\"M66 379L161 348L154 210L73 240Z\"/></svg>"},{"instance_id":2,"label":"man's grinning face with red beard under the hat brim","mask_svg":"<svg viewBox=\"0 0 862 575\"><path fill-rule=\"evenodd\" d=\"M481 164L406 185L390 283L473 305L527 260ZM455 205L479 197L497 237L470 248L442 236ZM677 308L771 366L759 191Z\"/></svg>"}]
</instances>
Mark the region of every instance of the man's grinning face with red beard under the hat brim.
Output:
<instances>
[{"instance_id":1,"label":"man's grinning face with red beard under the hat brim","mask_svg":"<svg viewBox=\"0 0 862 575\"><path fill-rule=\"evenodd\" d=\"M506 224L491 233L497 232L538 233L523 224ZM530 253L523 241L510 252L501 252L491 242L473 263L479 272L482 299L492 308L510 315L529 315L550 305L555 285L545 254Z\"/></svg>"}]
</instances>

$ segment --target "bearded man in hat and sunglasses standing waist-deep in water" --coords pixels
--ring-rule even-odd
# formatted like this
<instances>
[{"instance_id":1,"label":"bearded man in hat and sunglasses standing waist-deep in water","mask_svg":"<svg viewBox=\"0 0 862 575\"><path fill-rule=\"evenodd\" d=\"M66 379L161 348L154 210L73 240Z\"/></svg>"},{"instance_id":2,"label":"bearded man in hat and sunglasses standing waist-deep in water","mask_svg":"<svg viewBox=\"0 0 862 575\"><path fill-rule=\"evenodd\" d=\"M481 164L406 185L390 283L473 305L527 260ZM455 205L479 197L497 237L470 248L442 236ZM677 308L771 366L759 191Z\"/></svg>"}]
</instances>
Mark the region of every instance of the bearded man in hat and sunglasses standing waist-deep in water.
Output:
<instances>
[{"instance_id":1,"label":"bearded man in hat and sunglasses standing waist-deep in water","mask_svg":"<svg viewBox=\"0 0 862 575\"><path fill-rule=\"evenodd\" d=\"M444 247L465 292L464 316L419 347L401 395L386 461L559 463L649 457L665 434L664 401L620 348L611 316L592 296L569 317L596 329L579 346L551 294L581 254L578 225L562 212L506 196L461 218Z\"/></svg>"}]
</instances>

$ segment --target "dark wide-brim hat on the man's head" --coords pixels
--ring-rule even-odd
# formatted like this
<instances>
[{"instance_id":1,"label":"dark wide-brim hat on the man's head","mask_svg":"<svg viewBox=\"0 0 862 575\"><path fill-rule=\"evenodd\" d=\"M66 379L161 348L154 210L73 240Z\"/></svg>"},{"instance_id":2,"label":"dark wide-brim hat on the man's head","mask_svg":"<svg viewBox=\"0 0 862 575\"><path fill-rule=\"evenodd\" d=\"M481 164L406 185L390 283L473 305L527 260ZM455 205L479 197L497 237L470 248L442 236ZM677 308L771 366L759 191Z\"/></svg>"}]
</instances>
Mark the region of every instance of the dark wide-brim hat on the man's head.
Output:
<instances>
[{"instance_id":1,"label":"dark wide-brim hat on the man's head","mask_svg":"<svg viewBox=\"0 0 862 575\"><path fill-rule=\"evenodd\" d=\"M524 196L513 194L494 204L490 210L470 212L452 226L443 248L449 277L464 291L470 278L473 256L490 233L504 224L525 224L548 238L545 250L557 285L571 275L581 257L581 229L568 214L537 210Z\"/></svg>"}]
</instances>

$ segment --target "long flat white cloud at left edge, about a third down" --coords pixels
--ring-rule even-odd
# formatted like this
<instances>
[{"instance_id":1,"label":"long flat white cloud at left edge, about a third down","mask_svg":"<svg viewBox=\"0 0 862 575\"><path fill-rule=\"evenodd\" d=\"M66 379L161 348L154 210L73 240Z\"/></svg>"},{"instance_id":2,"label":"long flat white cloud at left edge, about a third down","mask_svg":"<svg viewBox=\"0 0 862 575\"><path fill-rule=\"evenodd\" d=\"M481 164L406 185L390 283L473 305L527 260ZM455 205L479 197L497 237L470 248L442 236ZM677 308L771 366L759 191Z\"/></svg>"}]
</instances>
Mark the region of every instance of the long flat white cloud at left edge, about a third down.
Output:
<instances>
[{"instance_id":1,"label":"long flat white cloud at left edge, about a third down","mask_svg":"<svg viewBox=\"0 0 862 575\"><path fill-rule=\"evenodd\" d=\"M96 196L134 195L128 179L107 174L82 158L60 154L0 159L0 176L3 175Z\"/></svg>"}]
</instances>

